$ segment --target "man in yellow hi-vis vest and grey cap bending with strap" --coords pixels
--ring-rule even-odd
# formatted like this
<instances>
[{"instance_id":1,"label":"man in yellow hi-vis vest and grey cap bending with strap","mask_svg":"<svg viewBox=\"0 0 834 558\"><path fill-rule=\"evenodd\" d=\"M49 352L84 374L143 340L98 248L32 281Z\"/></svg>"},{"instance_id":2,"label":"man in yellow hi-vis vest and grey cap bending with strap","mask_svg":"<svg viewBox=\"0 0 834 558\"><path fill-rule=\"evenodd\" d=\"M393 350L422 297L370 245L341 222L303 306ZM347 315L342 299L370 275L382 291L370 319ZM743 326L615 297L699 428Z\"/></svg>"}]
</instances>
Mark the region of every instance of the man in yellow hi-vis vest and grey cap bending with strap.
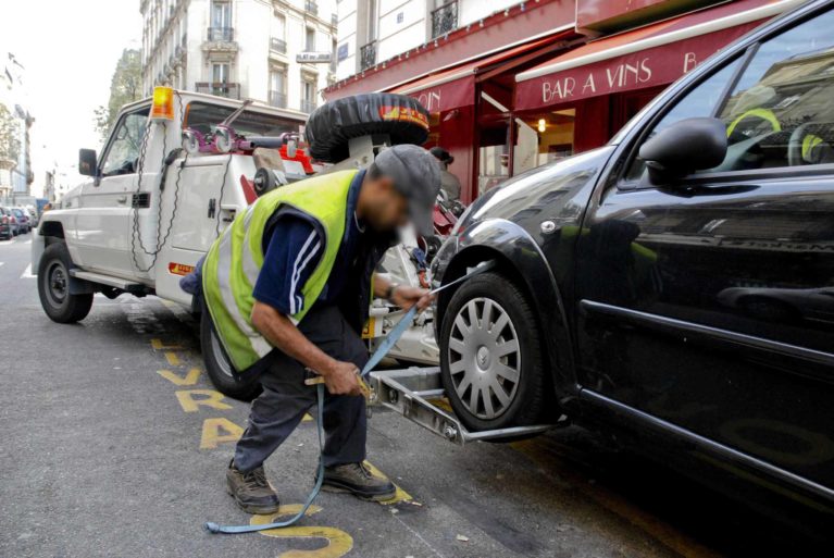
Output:
<instances>
[{"instance_id":1,"label":"man in yellow hi-vis vest and grey cap bending with strap","mask_svg":"<svg viewBox=\"0 0 834 558\"><path fill-rule=\"evenodd\" d=\"M272 513L278 496L263 462L316 404L304 385L324 377L323 488L369 500L395 486L365 459L368 361L361 330L371 293L402 308L431 302L426 289L375 276L397 230L431 232L440 169L425 149L400 145L366 171L341 171L275 189L241 212L209 250L206 305L235 370L261 374L263 392L226 470L229 494L250 513Z\"/></svg>"}]
</instances>

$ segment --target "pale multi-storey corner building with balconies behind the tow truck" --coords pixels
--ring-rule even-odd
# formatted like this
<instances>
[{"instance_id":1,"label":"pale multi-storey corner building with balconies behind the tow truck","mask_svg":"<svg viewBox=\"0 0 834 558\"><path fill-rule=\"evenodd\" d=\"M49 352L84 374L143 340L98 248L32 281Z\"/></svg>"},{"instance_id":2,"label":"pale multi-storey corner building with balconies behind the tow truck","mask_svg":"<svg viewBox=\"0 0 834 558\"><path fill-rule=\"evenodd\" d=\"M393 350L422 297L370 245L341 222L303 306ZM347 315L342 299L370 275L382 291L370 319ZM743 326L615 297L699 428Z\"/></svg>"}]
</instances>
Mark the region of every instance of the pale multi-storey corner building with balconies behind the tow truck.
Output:
<instances>
[{"instance_id":1,"label":"pale multi-storey corner building with balconies behind the tow truck","mask_svg":"<svg viewBox=\"0 0 834 558\"><path fill-rule=\"evenodd\" d=\"M335 0L142 0L140 11L146 94L170 85L309 113L335 79Z\"/></svg>"}]
</instances>

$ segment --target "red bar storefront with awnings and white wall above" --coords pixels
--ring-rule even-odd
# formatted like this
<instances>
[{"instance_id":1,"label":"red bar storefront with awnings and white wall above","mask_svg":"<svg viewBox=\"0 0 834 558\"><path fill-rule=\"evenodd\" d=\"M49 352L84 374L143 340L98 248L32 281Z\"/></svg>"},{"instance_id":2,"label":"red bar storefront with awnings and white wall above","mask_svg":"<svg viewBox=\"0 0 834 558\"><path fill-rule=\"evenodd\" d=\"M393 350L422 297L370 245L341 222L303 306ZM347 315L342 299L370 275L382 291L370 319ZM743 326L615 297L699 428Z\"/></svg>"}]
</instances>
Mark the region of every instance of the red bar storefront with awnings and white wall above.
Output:
<instances>
[{"instance_id":1,"label":"red bar storefront with awnings and white wall above","mask_svg":"<svg viewBox=\"0 0 834 558\"><path fill-rule=\"evenodd\" d=\"M798 3L343 0L325 98L416 98L431 114L425 147L451 152L468 202L606 144L669 84Z\"/></svg>"}]
</instances>

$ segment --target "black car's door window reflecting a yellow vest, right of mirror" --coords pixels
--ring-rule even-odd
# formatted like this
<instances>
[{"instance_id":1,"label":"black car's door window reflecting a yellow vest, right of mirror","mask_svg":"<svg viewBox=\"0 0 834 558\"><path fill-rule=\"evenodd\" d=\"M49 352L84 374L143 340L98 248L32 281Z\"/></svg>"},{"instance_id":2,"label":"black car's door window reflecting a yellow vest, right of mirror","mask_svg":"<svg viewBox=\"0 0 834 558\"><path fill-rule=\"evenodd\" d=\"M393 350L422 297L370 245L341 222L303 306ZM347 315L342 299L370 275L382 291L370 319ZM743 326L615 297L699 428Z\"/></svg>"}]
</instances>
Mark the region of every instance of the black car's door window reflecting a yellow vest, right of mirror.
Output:
<instances>
[{"instance_id":1,"label":"black car's door window reflecting a yellow vest, right of mirror","mask_svg":"<svg viewBox=\"0 0 834 558\"><path fill-rule=\"evenodd\" d=\"M715 170L834 163L834 11L759 47L724 103L729 151Z\"/></svg>"}]
</instances>

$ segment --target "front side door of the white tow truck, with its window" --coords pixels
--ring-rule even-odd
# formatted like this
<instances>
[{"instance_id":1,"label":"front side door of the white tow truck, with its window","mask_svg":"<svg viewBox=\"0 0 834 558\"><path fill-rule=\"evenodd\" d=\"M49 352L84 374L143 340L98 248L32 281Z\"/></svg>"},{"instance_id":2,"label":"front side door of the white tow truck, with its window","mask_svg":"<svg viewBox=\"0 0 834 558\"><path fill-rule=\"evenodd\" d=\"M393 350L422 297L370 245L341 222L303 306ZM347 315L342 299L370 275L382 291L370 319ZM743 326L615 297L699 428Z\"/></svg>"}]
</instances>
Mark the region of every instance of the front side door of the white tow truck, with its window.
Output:
<instances>
[{"instance_id":1,"label":"front side door of the white tow truck, with its window","mask_svg":"<svg viewBox=\"0 0 834 558\"><path fill-rule=\"evenodd\" d=\"M76 246L87 269L132 274L132 203L148 113L144 106L122 115L99 159L99 176L83 186Z\"/></svg>"}]
</instances>

